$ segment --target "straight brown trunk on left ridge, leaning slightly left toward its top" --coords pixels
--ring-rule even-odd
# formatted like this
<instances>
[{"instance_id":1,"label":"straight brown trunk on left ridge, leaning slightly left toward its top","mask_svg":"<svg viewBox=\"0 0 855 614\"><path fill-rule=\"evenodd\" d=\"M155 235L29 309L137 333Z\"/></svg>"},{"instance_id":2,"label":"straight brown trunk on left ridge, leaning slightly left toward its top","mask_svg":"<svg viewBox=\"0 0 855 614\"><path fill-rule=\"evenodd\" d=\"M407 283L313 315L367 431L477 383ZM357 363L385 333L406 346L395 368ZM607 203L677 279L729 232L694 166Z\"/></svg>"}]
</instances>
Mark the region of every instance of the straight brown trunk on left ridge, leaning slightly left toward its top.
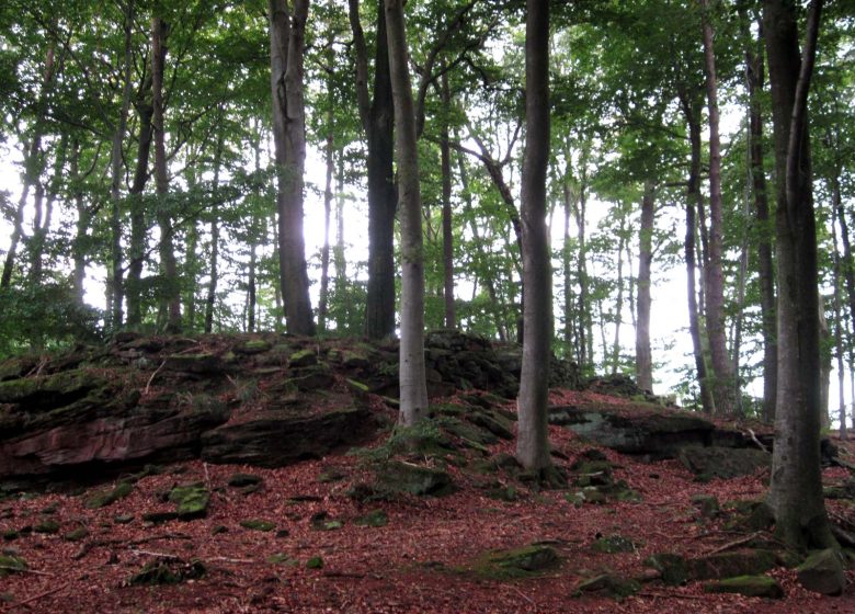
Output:
<instances>
[{"instance_id":1,"label":"straight brown trunk on left ridge, leaning slightly left toward its top","mask_svg":"<svg viewBox=\"0 0 855 614\"><path fill-rule=\"evenodd\" d=\"M163 71L167 61L167 37L169 26L159 16L151 20L151 104L155 112L151 127L155 134L155 185L158 194L157 220L160 227L160 271L163 282L161 300L167 311L166 331L181 332L181 284L175 261L174 230L172 216L167 209L169 177L167 174L167 149L163 107Z\"/></svg>"}]
</instances>

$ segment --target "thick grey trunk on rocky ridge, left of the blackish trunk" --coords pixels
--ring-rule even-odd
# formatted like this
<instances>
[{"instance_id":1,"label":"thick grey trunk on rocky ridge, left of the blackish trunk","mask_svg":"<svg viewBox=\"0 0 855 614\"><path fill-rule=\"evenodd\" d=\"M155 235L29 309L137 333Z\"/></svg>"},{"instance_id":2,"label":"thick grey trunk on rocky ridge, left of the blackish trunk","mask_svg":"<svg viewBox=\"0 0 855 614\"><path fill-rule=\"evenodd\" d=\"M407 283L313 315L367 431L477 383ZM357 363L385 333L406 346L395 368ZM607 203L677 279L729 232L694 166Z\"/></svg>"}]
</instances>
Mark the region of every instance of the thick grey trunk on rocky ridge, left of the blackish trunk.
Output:
<instances>
[{"instance_id":1,"label":"thick grey trunk on rocky ridge, left of the blackish trunk","mask_svg":"<svg viewBox=\"0 0 855 614\"><path fill-rule=\"evenodd\" d=\"M315 334L303 237L306 110L303 56L309 0L270 0L271 92L276 149L280 285L288 332Z\"/></svg>"}]
</instances>

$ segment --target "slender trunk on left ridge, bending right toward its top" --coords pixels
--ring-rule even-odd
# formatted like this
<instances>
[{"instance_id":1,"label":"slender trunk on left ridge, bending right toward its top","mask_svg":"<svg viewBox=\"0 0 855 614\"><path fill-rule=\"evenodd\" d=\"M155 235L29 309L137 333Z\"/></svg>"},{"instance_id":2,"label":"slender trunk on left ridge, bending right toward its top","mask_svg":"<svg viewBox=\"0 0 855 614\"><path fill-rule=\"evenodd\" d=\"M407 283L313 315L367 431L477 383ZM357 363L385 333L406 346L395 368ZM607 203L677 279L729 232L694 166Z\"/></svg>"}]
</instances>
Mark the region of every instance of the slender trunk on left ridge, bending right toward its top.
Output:
<instances>
[{"instance_id":1,"label":"slender trunk on left ridge, bending right toward its top","mask_svg":"<svg viewBox=\"0 0 855 614\"><path fill-rule=\"evenodd\" d=\"M134 44L134 0L127 0L125 5L125 21L123 29L125 32L125 53L123 61L123 83L122 83L122 107L118 112L118 122L116 122L113 132L113 144L110 151L110 235L111 235L111 272L107 285L112 296L112 311L109 314L109 321L113 328L122 326L124 319L124 298L125 283L124 269L122 260L122 146L125 143L125 133L127 132L127 118L130 112L130 94L133 83L130 81L130 70L133 62Z\"/></svg>"}]
</instances>

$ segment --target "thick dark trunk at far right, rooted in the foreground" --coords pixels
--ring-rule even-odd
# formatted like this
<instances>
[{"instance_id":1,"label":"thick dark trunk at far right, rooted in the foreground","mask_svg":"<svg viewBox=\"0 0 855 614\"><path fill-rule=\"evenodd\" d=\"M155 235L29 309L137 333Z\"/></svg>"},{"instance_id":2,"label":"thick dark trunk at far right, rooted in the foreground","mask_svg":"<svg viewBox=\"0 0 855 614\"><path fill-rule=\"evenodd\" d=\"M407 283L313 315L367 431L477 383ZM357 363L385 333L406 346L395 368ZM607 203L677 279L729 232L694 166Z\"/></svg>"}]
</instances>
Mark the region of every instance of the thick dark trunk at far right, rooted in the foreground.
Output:
<instances>
[{"instance_id":1,"label":"thick dark trunk at far right, rooted in the foreground","mask_svg":"<svg viewBox=\"0 0 855 614\"><path fill-rule=\"evenodd\" d=\"M778 537L799 548L835 545L820 468L817 226L806 109L820 8L821 1L811 2L801 57L797 7L784 0L763 2L775 128L780 288L776 436L768 499Z\"/></svg>"}]
</instances>

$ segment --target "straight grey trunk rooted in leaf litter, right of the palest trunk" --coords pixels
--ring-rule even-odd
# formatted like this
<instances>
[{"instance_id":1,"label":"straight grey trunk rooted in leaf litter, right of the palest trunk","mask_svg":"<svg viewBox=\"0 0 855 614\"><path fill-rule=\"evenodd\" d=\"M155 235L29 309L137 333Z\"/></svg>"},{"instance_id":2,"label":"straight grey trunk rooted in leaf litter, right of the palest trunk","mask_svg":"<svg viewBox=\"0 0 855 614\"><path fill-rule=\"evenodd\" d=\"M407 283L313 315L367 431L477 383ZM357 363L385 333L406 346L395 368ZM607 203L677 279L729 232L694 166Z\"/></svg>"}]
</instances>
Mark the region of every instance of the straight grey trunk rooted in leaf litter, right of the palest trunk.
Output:
<instances>
[{"instance_id":1,"label":"straight grey trunk rooted in leaf litter, right of the palest trunk","mask_svg":"<svg viewBox=\"0 0 855 614\"><path fill-rule=\"evenodd\" d=\"M526 143L521 184L523 228L523 367L516 457L540 474L549 456L547 397L552 338L551 266L546 232L546 173L549 164L549 3L527 1L525 26Z\"/></svg>"}]
</instances>

